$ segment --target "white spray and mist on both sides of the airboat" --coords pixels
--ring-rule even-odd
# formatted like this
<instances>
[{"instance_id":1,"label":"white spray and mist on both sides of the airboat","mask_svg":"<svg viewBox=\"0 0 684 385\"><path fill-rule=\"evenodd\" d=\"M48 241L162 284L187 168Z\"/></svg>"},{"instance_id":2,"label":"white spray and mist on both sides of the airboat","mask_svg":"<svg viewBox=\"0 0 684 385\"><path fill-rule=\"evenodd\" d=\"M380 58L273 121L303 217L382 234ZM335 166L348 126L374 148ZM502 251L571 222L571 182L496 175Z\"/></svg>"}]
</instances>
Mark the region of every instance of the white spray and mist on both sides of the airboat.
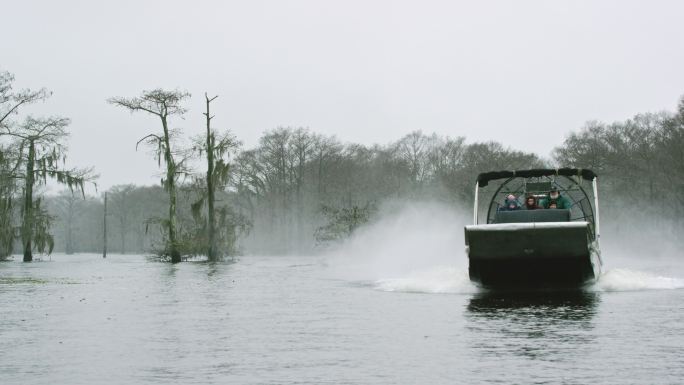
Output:
<instances>
[{"instance_id":1,"label":"white spray and mist on both sides of the airboat","mask_svg":"<svg viewBox=\"0 0 684 385\"><path fill-rule=\"evenodd\" d=\"M463 227L469 219L469 213L442 203L385 204L378 220L331 250L328 266L338 278L368 282L383 291L477 292L468 279L464 251ZM681 258L671 254L671 248L661 246L645 258L642 252L621 247L616 238L604 243L604 274L591 290L684 288L684 279L658 273L665 270L676 276L681 270Z\"/></svg>"}]
</instances>

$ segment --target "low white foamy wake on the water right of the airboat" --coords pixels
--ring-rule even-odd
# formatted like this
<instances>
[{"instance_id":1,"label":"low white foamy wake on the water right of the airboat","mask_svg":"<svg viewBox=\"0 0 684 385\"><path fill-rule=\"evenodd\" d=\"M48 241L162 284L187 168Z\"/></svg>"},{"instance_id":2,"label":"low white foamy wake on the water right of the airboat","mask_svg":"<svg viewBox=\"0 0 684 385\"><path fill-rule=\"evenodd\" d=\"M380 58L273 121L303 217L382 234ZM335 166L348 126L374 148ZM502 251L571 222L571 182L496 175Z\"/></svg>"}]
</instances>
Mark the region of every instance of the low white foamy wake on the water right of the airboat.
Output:
<instances>
[{"instance_id":1,"label":"low white foamy wake on the water right of the airboat","mask_svg":"<svg viewBox=\"0 0 684 385\"><path fill-rule=\"evenodd\" d=\"M611 269L594 284L597 291L672 290L684 288L684 279L663 277L638 270Z\"/></svg>"}]
</instances>

